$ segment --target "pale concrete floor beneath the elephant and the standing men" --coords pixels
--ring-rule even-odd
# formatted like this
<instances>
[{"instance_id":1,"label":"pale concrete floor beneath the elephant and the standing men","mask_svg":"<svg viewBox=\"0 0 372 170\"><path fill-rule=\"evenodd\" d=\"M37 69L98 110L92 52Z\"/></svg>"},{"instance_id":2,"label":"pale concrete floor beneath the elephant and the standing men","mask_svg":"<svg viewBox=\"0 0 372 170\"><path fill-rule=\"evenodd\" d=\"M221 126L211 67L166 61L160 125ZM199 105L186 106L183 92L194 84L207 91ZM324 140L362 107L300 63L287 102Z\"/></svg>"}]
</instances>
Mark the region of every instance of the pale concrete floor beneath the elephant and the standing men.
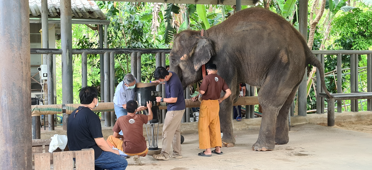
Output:
<instances>
[{"instance_id":1,"label":"pale concrete floor beneath the elephant and the standing men","mask_svg":"<svg viewBox=\"0 0 372 170\"><path fill-rule=\"evenodd\" d=\"M198 134L185 134L182 159L157 161L141 157L143 166L128 158L127 170L371 170L372 134L305 124L291 128L289 143L275 150L252 151L258 130L235 132L235 147L222 148L223 155L199 157ZM159 140L161 143L161 140ZM161 144L160 146L161 147Z\"/></svg>"}]
</instances>

